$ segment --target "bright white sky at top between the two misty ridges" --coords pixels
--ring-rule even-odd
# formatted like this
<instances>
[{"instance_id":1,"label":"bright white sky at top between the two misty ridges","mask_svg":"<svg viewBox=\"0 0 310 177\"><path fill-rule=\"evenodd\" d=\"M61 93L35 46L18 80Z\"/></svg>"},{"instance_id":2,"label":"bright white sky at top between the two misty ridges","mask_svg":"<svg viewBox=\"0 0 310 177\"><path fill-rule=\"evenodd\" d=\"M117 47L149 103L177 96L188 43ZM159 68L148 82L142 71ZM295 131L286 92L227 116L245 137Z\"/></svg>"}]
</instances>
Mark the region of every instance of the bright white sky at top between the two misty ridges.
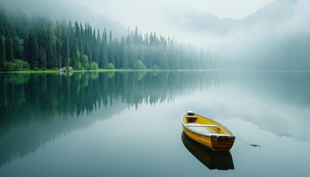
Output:
<instances>
[{"instance_id":1,"label":"bright white sky at top between the two misty ridges","mask_svg":"<svg viewBox=\"0 0 310 177\"><path fill-rule=\"evenodd\" d=\"M272 1L274 0L72 0L73 3L83 4L95 13L102 13L130 27L151 25L150 21L152 24L155 21L158 23L162 19L161 14L184 7L209 12L219 18L241 19Z\"/></svg>"}]
</instances>

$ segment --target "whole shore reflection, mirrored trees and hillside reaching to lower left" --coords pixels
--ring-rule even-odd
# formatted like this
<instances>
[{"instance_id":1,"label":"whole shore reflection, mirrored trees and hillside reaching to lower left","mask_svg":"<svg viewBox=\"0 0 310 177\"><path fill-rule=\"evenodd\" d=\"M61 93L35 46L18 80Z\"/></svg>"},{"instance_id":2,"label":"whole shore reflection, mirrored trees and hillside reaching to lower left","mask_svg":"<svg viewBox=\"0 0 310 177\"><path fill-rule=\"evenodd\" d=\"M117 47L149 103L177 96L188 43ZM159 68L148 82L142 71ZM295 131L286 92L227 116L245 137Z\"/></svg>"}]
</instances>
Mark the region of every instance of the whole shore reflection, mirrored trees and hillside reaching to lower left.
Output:
<instances>
[{"instance_id":1,"label":"whole shore reflection, mirrored trees and hillside reaching to lower left","mask_svg":"<svg viewBox=\"0 0 310 177\"><path fill-rule=\"evenodd\" d=\"M232 82L271 99L310 104L307 72L0 73L0 166L59 134L88 127L95 119ZM98 110L102 116L92 116Z\"/></svg>"}]
</instances>

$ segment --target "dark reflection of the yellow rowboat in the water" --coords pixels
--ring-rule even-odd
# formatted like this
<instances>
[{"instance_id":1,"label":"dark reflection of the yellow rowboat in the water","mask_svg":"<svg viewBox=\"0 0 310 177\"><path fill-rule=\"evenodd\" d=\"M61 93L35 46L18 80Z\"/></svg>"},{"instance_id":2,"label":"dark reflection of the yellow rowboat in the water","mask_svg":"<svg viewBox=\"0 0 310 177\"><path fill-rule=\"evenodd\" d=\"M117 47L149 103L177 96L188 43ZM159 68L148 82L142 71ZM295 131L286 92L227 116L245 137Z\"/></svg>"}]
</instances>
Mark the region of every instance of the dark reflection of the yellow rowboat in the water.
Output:
<instances>
[{"instance_id":1,"label":"dark reflection of the yellow rowboat in the water","mask_svg":"<svg viewBox=\"0 0 310 177\"><path fill-rule=\"evenodd\" d=\"M230 170L235 169L230 151L217 152L207 146L194 141L184 132L182 133L184 146L189 150L201 163L210 170Z\"/></svg>"}]
</instances>

